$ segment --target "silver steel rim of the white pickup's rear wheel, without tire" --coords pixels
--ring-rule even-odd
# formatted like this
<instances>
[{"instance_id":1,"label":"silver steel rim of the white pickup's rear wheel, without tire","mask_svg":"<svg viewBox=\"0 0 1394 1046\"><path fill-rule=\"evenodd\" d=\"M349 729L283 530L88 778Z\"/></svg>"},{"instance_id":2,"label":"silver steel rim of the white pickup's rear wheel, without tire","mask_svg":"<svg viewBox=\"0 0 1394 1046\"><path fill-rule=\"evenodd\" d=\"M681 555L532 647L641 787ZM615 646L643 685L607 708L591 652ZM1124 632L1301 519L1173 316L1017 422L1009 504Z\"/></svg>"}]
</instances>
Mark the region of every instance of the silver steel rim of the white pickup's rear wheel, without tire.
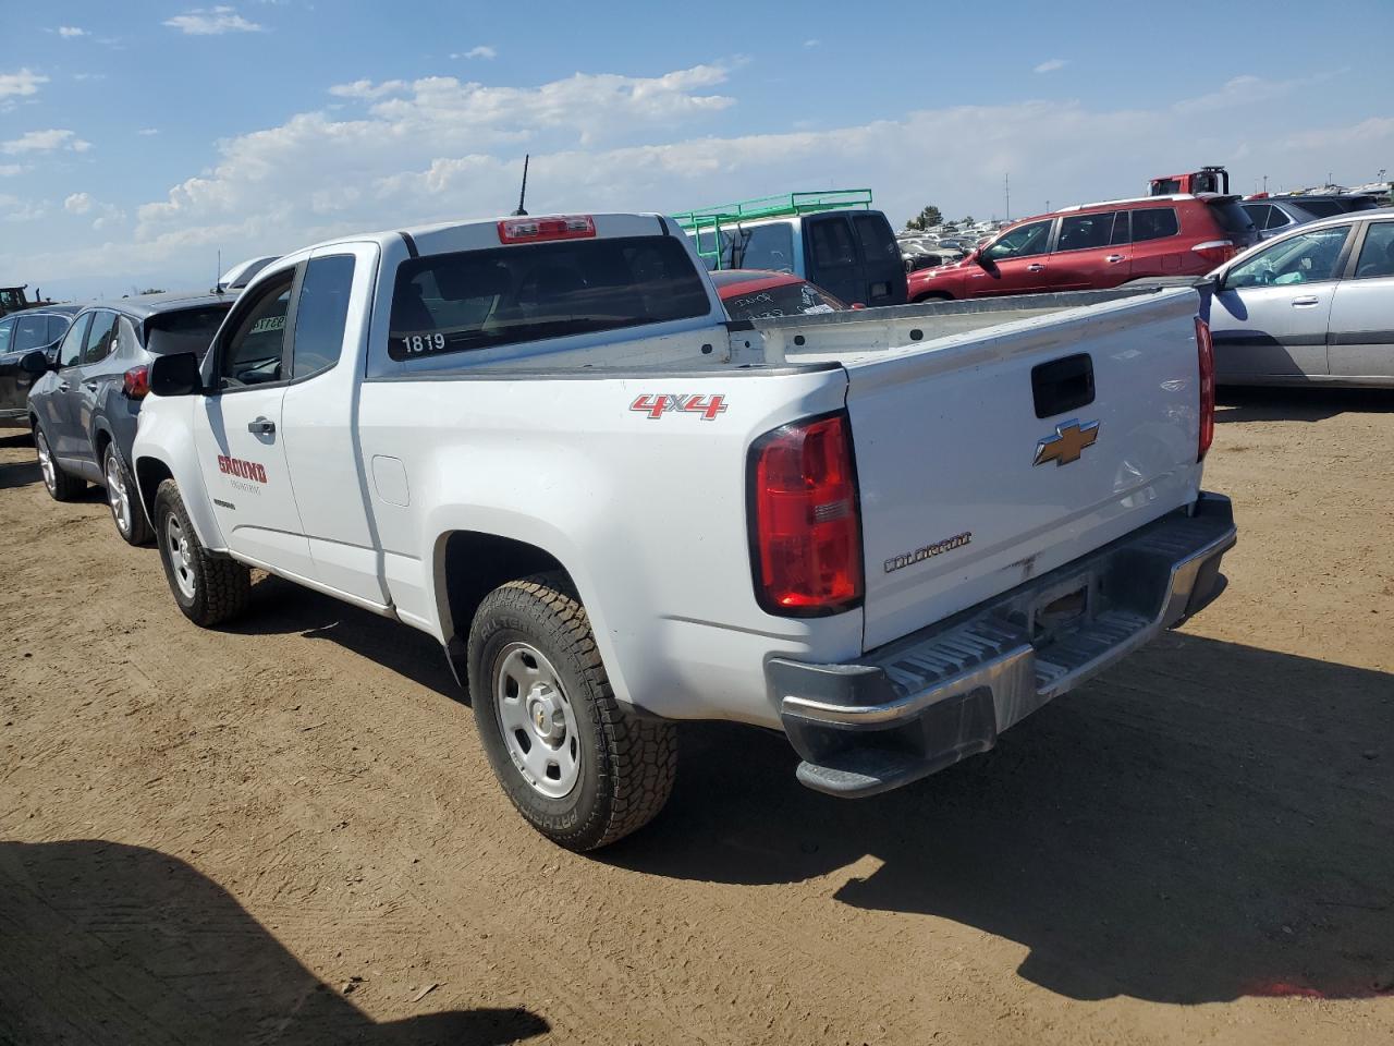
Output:
<instances>
[{"instance_id":1,"label":"silver steel rim of the white pickup's rear wheel, without tire","mask_svg":"<svg viewBox=\"0 0 1394 1046\"><path fill-rule=\"evenodd\" d=\"M581 777L576 711L542 653L510 643L495 661L493 708L513 766L538 795L566 796Z\"/></svg>"}]
</instances>

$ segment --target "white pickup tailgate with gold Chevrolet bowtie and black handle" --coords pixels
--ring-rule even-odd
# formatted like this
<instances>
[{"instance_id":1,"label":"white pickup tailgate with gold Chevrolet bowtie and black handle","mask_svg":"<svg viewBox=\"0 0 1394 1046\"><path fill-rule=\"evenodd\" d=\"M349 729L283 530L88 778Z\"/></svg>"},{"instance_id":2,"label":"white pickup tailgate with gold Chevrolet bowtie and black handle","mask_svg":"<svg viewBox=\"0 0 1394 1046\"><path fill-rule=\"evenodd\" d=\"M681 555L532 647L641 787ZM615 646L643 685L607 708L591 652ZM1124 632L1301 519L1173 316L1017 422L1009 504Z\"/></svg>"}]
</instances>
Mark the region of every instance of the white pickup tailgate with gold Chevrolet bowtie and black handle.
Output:
<instances>
[{"instance_id":1,"label":"white pickup tailgate with gold Chevrolet bowtie and black handle","mask_svg":"<svg viewBox=\"0 0 1394 1046\"><path fill-rule=\"evenodd\" d=\"M1165 291L843 357L864 649L1195 501L1196 304Z\"/></svg>"}]
</instances>

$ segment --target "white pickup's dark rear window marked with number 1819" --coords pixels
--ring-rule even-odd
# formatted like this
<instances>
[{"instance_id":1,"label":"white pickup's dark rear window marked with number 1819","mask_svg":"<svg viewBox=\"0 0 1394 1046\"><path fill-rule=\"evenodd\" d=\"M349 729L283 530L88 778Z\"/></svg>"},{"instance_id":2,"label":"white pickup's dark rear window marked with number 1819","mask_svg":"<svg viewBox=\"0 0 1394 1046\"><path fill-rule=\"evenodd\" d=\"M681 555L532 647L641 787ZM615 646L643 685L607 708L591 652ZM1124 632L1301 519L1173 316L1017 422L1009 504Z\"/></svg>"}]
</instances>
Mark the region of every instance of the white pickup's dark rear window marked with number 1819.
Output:
<instances>
[{"instance_id":1,"label":"white pickup's dark rear window marked with number 1819","mask_svg":"<svg viewBox=\"0 0 1394 1046\"><path fill-rule=\"evenodd\" d=\"M408 360L710 311L705 279L671 236L438 254L397 268L388 354Z\"/></svg>"}]
</instances>

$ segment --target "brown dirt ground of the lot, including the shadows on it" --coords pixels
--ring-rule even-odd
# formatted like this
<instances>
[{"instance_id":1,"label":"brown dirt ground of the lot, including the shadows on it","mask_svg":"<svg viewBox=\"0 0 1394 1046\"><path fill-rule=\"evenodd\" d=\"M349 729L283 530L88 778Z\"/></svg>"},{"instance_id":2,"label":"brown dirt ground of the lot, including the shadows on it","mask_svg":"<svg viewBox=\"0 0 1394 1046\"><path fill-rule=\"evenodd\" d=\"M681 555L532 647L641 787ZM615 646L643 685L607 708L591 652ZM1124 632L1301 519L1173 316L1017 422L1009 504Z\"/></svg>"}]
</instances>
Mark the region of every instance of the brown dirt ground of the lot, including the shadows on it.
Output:
<instances>
[{"instance_id":1,"label":"brown dirt ground of the lot, including the shadows on it","mask_svg":"<svg viewBox=\"0 0 1394 1046\"><path fill-rule=\"evenodd\" d=\"M1394 395L1220 421L1184 630L878 799L684 728L595 856L429 639L275 579L199 632L0 439L0 1042L1394 1042Z\"/></svg>"}]
</instances>

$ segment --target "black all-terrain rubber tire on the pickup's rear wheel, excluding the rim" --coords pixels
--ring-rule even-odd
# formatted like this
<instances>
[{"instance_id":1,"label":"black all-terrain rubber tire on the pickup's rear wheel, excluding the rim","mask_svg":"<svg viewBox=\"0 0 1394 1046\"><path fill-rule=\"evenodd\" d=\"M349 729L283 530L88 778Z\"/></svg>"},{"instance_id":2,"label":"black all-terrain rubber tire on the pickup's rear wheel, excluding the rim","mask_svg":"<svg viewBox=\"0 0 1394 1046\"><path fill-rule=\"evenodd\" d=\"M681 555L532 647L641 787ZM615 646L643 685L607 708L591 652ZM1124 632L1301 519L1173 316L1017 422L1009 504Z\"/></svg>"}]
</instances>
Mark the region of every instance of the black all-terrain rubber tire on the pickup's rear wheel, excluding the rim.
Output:
<instances>
[{"instance_id":1,"label":"black all-terrain rubber tire on the pickup's rear wheel, excluding the rim","mask_svg":"<svg viewBox=\"0 0 1394 1046\"><path fill-rule=\"evenodd\" d=\"M496 693L509 651L533 650L555 683L580 742L574 785L562 796L530 782L505 741ZM590 618L570 580L538 573L495 589L470 629L470 696L493 774L519 813L558 845L597 849L651 821L668 802L677 768L672 722L640 718L615 700Z\"/></svg>"}]
</instances>

